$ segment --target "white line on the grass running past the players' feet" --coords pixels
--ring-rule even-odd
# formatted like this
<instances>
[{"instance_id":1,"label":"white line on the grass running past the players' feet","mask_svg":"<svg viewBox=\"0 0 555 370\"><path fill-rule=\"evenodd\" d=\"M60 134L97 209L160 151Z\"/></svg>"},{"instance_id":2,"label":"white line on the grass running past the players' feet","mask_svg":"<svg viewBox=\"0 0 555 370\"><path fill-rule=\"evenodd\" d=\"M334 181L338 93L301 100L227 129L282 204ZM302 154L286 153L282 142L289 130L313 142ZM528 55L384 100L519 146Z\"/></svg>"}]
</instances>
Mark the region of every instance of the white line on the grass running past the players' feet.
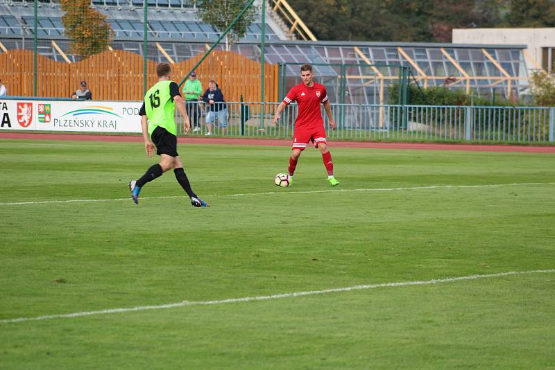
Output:
<instances>
[{"instance_id":1,"label":"white line on the grass running past the players' feet","mask_svg":"<svg viewBox=\"0 0 555 370\"><path fill-rule=\"evenodd\" d=\"M432 186L411 186L404 188L359 188L359 189L333 189L333 190L314 190L314 191L268 191L266 193L239 193L239 194L212 194L204 195L203 198L210 200L210 197L246 197L249 195L289 195L289 194L311 194L311 193L349 193L356 191L404 191L404 190L426 190L426 189L445 189L445 188L497 188L500 186L534 186L534 185L554 185L555 182L522 182L513 184L485 184L485 185L432 185ZM148 199L171 199L182 198L185 195L174 195L167 197L141 197L140 200ZM130 197L116 199L71 199L71 200L37 200L34 202L5 202L0 206L15 206L25 204L62 204L78 202L128 202Z\"/></svg>"}]
</instances>

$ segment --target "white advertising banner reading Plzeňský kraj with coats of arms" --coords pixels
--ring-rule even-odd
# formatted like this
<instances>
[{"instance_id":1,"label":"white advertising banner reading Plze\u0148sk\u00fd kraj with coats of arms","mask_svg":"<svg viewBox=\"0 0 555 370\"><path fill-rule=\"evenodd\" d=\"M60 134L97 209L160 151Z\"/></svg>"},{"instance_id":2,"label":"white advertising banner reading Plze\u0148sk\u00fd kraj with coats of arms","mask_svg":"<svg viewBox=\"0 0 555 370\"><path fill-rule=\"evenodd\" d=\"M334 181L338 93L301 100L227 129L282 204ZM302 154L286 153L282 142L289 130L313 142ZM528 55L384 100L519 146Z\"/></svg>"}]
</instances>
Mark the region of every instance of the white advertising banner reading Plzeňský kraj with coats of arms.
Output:
<instances>
[{"instance_id":1,"label":"white advertising banner reading Plze\u0148sk\u00fd kraj with coats of arms","mask_svg":"<svg viewBox=\"0 0 555 370\"><path fill-rule=\"evenodd\" d=\"M142 102L2 100L0 130L141 132Z\"/></svg>"}]
</instances>

